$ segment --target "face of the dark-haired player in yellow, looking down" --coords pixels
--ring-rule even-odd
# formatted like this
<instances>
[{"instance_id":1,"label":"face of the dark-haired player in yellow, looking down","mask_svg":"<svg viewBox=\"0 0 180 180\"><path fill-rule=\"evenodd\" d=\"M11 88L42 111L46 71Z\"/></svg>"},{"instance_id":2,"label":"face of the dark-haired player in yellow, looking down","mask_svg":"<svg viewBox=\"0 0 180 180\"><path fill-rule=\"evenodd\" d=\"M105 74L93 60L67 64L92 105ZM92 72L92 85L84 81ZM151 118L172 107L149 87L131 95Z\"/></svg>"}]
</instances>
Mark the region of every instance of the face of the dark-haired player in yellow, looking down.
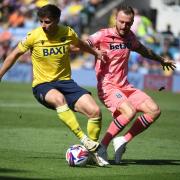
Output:
<instances>
[{"instance_id":1,"label":"face of the dark-haired player in yellow, looking down","mask_svg":"<svg viewBox=\"0 0 180 180\"><path fill-rule=\"evenodd\" d=\"M41 27L43 28L43 31L48 35L53 35L57 30L57 20L52 20L48 17L43 17L39 19L41 23Z\"/></svg>"}]
</instances>

